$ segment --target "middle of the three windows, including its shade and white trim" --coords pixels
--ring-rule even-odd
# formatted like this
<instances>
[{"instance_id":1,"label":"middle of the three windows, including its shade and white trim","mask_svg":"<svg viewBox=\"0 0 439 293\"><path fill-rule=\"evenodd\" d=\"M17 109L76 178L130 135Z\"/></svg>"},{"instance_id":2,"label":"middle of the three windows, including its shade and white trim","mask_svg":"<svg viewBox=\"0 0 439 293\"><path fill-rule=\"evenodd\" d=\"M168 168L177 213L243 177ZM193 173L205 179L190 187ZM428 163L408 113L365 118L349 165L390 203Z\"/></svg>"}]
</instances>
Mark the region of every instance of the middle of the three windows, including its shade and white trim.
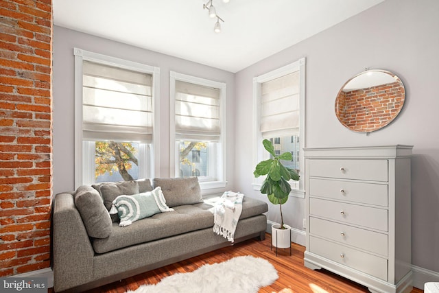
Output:
<instances>
[{"instance_id":1,"label":"middle of the three windows, including its shade and white trim","mask_svg":"<svg viewBox=\"0 0 439 293\"><path fill-rule=\"evenodd\" d=\"M225 187L226 84L171 71L171 177L197 176L202 189Z\"/></svg>"}]
</instances>

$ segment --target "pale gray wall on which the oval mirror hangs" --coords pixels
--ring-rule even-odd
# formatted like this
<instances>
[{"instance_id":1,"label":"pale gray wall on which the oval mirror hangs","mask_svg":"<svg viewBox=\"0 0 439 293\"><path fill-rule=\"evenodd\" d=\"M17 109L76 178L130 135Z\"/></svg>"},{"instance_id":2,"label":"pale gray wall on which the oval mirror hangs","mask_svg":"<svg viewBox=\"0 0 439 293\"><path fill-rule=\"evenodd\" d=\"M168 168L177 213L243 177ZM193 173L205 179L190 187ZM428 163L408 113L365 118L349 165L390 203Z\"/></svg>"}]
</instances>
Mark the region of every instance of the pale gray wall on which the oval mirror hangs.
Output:
<instances>
[{"instance_id":1,"label":"pale gray wall on which the oval mirror hangs","mask_svg":"<svg viewBox=\"0 0 439 293\"><path fill-rule=\"evenodd\" d=\"M252 190L252 78L307 58L306 147L414 145L412 159L412 263L439 272L439 1L386 0L329 30L261 60L236 74L236 182L248 196ZM294 34L294 32L291 32ZM406 89L403 110L390 125L359 134L335 117L335 96L353 75L386 69ZM278 220L278 206L269 220ZM275 212L274 212L275 211ZM285 222L302 229L304 200L290 198ZM286 217L285 217L286 214Z\"/></svg>"}]
</instances>

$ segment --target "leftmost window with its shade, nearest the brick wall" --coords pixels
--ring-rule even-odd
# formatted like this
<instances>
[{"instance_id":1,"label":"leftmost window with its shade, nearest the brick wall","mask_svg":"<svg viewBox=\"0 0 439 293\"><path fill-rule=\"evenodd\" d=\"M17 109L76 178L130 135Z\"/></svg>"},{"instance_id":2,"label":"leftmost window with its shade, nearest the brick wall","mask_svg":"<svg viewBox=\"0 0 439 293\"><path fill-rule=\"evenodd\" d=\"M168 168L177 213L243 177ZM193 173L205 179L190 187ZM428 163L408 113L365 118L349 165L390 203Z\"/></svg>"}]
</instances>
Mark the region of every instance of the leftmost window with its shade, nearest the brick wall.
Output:
<instances>
[{"instance_id":1,"label":"leftmost window with its shade, nearest the brick wall","mask_svg":"<svg viewBox=\"0 0 439 293\"><path fill-rule=\"evenodd\" d=\"M75 186L152 177L158 69L74 52Z\"/></svg>"}]
</instances>

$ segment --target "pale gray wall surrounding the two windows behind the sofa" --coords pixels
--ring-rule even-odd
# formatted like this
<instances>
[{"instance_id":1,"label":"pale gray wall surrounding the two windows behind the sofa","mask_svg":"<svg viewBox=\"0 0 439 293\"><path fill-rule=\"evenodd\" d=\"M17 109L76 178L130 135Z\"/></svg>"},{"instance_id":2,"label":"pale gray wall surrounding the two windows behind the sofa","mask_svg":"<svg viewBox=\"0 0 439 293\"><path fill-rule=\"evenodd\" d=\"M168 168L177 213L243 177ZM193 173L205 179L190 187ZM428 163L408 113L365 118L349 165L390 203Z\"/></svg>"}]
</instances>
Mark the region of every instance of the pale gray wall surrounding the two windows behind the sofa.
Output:
<instances>
[{"instance_id":1,"label":"pale gray wall surrounding the two windows behind the sofa","mask_svg":"<svg viewBox=\"0 0 439 293\"><path fill-rule=\"evenodd\" d=\"M154 51L117 43L54 27L54 194L74 187L74 56L73 47L125 60L160 67L160 174L169 177L169 71L185 73L227 84L227 178L225 189L210 189L209 193L233 189L235 182L235 107L233 73L174 58ZM155 138L154 138L155 139Z\"/></svg>"}]
</instances>

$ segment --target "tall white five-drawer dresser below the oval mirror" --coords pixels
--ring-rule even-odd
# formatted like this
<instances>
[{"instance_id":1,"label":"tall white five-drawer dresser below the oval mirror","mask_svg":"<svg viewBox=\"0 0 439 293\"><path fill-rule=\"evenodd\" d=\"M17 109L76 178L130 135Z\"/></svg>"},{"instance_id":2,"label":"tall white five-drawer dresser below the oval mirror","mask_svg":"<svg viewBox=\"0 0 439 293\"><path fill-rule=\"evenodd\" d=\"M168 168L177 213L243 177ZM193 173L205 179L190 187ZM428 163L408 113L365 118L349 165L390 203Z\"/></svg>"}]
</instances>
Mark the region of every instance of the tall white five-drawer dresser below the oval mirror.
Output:
<instances>
[{"instance_id":1,"label":"tall white five-drawer dresser below the oval mirror","mask_svg":"<svg viewBox=\"0 0 439 293\"><path fill-rule=\"evenodd\" d=\"M371 292L412 290L411 145L305 149L305 266Z\"/></svg>"}]
</instances>

